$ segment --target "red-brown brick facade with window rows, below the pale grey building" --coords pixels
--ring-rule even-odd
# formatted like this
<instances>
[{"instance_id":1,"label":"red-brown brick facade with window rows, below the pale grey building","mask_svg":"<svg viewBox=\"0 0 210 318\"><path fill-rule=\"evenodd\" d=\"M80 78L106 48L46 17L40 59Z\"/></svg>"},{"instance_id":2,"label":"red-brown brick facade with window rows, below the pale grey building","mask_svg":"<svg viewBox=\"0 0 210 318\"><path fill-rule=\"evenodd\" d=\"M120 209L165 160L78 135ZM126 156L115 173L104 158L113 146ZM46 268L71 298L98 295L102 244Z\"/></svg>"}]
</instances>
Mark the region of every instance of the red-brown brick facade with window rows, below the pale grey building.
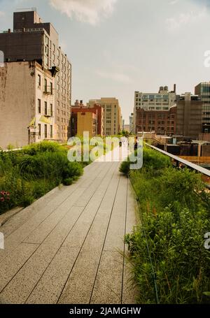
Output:
<instances>
[{"instance_id":1,"label":"red-brown brick facade with window rows, below the pale grey building","mask_svg":"<svg viewBox=\"0 0 210 318\"><path fill-rule=\"evenodd\" d=\"M172 136L176 133L176 106L169 110L136 110L136 133L151 132Z\"/></svg>"}]
</instances>

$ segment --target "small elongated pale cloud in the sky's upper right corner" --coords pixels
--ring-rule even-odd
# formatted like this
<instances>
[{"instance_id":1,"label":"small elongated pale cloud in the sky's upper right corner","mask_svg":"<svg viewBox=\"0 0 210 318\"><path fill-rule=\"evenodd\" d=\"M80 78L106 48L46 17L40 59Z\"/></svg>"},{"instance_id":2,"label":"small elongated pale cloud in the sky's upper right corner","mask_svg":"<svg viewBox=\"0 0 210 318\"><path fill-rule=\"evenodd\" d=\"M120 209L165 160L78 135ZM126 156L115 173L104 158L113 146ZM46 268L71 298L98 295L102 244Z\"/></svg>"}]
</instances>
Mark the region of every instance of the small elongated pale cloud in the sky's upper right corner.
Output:
<instances>
[{"instance_id":1,"label":"small elongated pale cloud in the sky's upper right corner","mask_svg":"<svg viewBox=\"0 0 210 318\"><path fill-rule=\"evenodd\" d=\"M202 20L207 15L207 8L200 11L191 11L189 13L180 13L178 17L169 17L166 20L169 31L176 31L181 27Z\"/></svg>"}]
</instances>

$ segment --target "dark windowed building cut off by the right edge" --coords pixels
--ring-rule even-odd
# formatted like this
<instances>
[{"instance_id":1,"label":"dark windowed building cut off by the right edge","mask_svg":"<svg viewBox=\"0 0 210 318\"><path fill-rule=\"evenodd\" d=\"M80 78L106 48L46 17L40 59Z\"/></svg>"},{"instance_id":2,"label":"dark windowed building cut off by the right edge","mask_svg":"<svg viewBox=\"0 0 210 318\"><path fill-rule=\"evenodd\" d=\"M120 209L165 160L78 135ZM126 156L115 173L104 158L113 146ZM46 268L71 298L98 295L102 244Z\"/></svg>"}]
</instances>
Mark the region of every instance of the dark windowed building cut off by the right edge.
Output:
<instances>
[{"instance_id":1,"label":"dark windowed building cut off by the right edge","mask_svg":"<svg viewBox=\"0 0 210 318\"><path fill-rule=\"evenodd\" d=\"M210 82L200 82L195 94L202 100L202 133L210 133Z\"/></svg>"}]
</instances>

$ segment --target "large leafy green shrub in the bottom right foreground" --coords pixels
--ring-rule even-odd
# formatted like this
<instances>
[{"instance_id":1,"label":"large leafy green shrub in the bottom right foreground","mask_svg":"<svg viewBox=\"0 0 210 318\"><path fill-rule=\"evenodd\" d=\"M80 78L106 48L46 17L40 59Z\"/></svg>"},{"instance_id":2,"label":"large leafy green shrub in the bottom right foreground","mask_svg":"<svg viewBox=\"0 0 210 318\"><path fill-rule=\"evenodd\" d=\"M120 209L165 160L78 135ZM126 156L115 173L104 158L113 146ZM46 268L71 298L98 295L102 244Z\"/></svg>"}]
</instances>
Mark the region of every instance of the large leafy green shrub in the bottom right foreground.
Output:
<instances>
[{"instance_id":1,"label":"large leafy green shrub in the bottom right foreground","mask_svg":"<svg viewBox=\"0 0 210 318\"><path fill-rule=\"evenodd\" d=\"M160 303L204 303L210 289L209 252L204 233L210 226L203 210L193 216L180 210L179 218L170 208L143 215L143 226L125 237L139 287L139 303L155 303L154 284L147 243L156 273ZM144 236L146 233L146 237Z\"/></svg>"}]
</instances>

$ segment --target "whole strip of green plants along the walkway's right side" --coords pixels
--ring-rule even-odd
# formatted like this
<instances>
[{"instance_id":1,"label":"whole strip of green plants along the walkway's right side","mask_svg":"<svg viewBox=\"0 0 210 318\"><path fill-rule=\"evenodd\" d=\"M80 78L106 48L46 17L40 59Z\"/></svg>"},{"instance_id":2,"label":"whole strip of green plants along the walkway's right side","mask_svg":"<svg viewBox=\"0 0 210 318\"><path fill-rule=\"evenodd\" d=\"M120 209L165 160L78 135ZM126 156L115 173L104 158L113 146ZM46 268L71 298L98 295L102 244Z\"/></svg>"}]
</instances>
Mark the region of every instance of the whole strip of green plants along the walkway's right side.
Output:
<instances>
[{"instance_id":1,"label":"whole strip of green plants along the walkway's right side","mask_svg":"<svg viewBox=\"0 0 210 318\"><path fill-rule=\"evenodd\" d=\"M204 249L210 196L201 175L172 168L166 156L147 147L141 170L130 171L125 163L120 170L130 176L139 201L141 224L125 236L138 302L156 301L154 269L160 303L210 303L210 252Z\"/></svg>"}]
</instances>

